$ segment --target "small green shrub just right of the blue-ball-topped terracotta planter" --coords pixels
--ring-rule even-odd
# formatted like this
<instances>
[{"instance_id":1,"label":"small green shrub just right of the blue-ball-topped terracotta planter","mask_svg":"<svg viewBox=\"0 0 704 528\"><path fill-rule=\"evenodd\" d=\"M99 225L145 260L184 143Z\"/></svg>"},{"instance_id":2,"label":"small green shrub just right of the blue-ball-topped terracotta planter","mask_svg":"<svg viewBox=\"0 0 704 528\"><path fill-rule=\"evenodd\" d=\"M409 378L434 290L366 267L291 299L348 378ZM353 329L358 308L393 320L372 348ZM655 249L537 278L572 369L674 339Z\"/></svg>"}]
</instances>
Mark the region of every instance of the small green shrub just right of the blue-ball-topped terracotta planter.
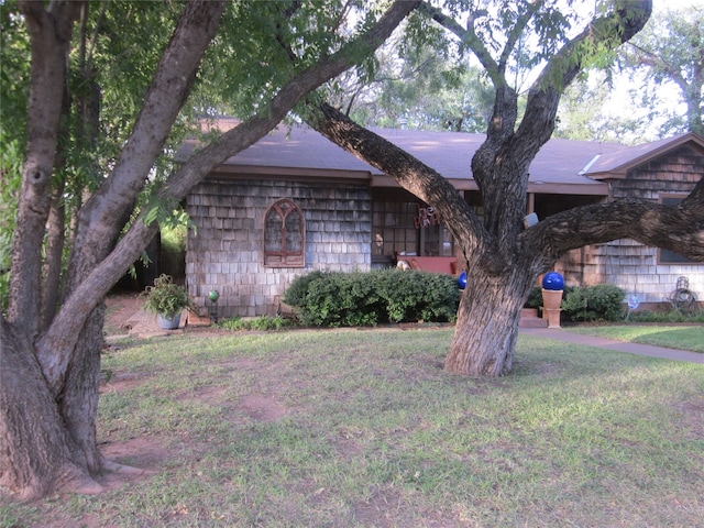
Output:
<instances>
[{"instance_id":1,"label":"small green shrub just right of the blue-ball-topped terracotta planter","mask_svg":"<svg viewBox=\"0 0 704 528\"><path fill-rule=\"evenodd\" d=\"M562 298L566 321L616 321L623 317L624 290L610 284L574 287Z\"/></svg>"}]
</instances>

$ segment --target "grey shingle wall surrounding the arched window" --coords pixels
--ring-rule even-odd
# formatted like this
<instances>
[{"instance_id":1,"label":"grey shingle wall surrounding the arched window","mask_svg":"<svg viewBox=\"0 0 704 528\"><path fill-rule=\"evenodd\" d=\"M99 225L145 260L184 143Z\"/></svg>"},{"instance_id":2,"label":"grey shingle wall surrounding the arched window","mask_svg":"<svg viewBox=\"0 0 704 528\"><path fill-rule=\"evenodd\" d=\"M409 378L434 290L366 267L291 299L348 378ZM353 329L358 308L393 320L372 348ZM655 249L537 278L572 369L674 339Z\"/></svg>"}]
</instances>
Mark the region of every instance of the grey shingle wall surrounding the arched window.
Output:
<instances>
[{"instance_id":1,"label":"grey shingle wall surrounding the arched window","mask_svg":"<svg viewBox=\"0 0 704 528\"><path fill-rule=\"evenodd\" d=\"M306 221L306 267L264 267L264 213L292 199ZM207 312L206 297L220 293L220 318L275 315L294 277L311 270L371 267L371 196L365 187L328 188L271 180L208 180L187 198L197 231L188 237L186 279Z\"/></svg>"}]
</instances>

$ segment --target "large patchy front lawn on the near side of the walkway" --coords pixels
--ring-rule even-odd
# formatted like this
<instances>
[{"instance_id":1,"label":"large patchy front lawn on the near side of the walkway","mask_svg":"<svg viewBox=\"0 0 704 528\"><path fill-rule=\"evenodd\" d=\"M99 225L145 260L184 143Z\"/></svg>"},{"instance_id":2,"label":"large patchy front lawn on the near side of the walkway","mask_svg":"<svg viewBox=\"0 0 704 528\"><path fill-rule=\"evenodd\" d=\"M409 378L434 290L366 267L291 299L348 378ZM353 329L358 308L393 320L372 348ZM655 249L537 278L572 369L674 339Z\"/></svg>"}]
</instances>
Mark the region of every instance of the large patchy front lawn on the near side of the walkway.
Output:
<instances>
[{"instance_id":1,"label":"large patchy front lawn on the near side of the walkway","mask_svg":"<svg viewBox=\"0 0 704 528\"><path fill-rule=\"evenodd\" d=\"M704 365L521 336L513 375L465 378L452 331L125 341L98 435L154 474L0 524L701 526Z\"/></svg>"}]
</instances>

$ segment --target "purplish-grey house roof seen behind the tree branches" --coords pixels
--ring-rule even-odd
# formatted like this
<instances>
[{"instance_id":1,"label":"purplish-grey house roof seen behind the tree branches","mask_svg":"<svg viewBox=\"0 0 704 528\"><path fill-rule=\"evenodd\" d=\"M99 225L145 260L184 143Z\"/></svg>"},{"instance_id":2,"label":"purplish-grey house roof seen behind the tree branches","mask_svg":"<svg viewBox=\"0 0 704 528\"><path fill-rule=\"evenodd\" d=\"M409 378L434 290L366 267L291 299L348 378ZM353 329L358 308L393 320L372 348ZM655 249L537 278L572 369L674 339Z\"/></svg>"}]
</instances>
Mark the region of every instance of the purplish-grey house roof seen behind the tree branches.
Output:
<instances>
[{"instance_id":1,"label":"purplish-grey house roof seen behind the tree branches","mask_svg":"<svg viewBox=\"0 0 704 528\"><path fill-rule=\"evenodd\" d=\"M238 121L232 119L221 119L217 123L220 130L228 130L237 124ZM371 130L404 148L455 185L472 182L472 156L485 140L483 134L462 132ZM635 160L642 160L644 156L661 153L692 136L698 138L690 133L634 147L618 143L553 139L540 150L530 165L529 183L532 184L534 191L539 193L549 194L549 186L560 186L561 190L556 193L564 194L564 186L571 186L580 189L576 194L606 195L605 184L597 180L603 178L605 173L614 172ZM698 142L702 142L701 138ZM182 150L179 157L186 157L186 151L191 151L193 146L190 143ZM256 169L258 174L265 172L272 175L292 174L292 170L298 174L310 170L316 174L367 174L370 177L383 175L378 169L358 160L307 127L279 125L254 145L229 158L224 166L228 172ZM596 179L593 179L594 176Z\"/></svg>"}]
</instances>

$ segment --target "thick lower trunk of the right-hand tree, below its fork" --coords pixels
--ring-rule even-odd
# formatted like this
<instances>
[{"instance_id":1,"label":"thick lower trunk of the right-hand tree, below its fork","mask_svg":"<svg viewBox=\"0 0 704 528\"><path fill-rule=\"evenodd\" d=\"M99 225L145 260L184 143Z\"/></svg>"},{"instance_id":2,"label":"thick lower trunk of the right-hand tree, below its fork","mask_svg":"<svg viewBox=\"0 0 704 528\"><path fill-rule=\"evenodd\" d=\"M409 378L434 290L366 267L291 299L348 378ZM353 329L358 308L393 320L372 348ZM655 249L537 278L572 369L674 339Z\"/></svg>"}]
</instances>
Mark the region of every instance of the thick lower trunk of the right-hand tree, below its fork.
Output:
<instances>
[{"instance_id":1,"label":"thick lower trunk of the right-hand tree, below its fork","mask_svg":"<svg viewBox=\"0 0 704 528\"><path fill-rule=\"evenodd\" d=\"M520 310L534 280L528 266L502 276L469 267L446 371L490 377L510 372Z\"/></svg>"}]
</instances>

